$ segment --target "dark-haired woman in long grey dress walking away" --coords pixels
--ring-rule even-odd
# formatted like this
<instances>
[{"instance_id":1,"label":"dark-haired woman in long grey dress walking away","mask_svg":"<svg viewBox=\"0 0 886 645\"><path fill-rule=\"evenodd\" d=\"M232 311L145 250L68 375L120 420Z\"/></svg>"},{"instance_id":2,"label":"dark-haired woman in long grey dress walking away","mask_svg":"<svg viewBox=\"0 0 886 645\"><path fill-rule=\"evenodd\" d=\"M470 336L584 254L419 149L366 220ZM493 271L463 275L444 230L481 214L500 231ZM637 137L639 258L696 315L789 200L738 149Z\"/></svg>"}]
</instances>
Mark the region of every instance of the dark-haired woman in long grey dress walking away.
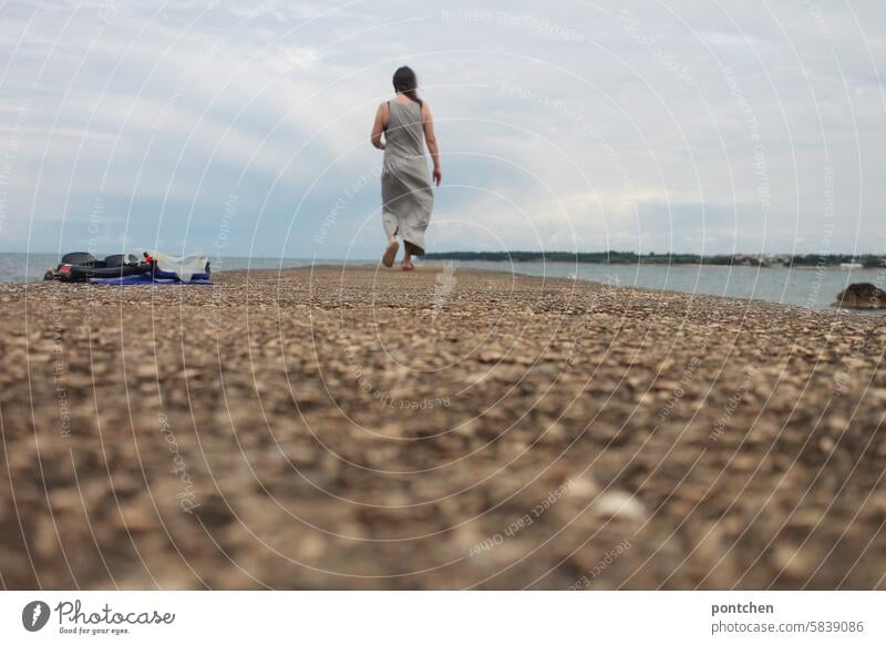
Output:
<instances>
[{"instance_id":1,"label":"dark-haired woman in long grey dress walking away","mask_svg":"<svg viewBox=\"0 0 886 645\"><path fill-rule=\"evenodd\" d=\"M415 72L406 66L396 70L396 94L379 105L372 126L372 145L384 151L381 198L388 248L381 262L387 267L393 266L400 237L403 239L403 270L415 268L413 255L424 255L424 232L434 206L431 175L424 156L425 142L434 162L433 180L437 186L443 178L431 109L419 99L416 89Z\"/></svg>"}]
</instances>

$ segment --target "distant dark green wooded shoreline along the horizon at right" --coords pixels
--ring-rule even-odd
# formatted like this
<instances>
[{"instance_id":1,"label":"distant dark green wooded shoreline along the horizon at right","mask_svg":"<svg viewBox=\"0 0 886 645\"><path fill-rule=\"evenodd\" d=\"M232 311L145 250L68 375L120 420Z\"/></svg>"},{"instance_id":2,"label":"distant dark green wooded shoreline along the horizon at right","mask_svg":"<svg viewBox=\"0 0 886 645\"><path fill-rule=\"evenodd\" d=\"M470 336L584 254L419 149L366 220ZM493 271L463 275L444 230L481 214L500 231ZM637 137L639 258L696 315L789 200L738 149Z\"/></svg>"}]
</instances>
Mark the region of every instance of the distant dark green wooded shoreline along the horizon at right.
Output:
<instances>
[{"instance_id":1,"label":"distant dark green wooded shoreline along the horizon at right","mask_svg":"<svg viewBox=\"0 0 886 645\"><path fill-rule=\"evenodd\" d=\"M487 262L566 262L583 264L708 264L720 266L839 266L841 264L861 264L865 268L879 268L886 264L886 257L879 255L696 255L692 253L648 253L637 254L625 250L607 250L597 253L569 253L566 250L451 250L425 254L425 259L487 260Z\"/></svg>"}]
</instances>

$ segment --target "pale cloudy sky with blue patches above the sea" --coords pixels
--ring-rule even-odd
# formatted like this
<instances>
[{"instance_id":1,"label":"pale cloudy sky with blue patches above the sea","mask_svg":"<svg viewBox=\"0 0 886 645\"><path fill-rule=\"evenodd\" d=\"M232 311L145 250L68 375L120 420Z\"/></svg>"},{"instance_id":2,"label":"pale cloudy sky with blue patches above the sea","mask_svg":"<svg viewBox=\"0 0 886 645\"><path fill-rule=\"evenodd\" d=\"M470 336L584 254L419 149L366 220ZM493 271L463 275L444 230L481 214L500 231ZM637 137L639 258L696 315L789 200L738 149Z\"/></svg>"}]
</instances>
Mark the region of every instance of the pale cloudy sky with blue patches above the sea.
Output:
<instances>
[{"instance_id":1,"label":"pale cloudy sky with blue patches above the sea","mask_svg":"<svg viewBox=\"0 0 886 645\"><path fill-rule=\"evenodd\" d=\"M409 64L430 250L886 253L882 0L0 11L2 250L374 256Z\"/></svg>"}]
</instances>

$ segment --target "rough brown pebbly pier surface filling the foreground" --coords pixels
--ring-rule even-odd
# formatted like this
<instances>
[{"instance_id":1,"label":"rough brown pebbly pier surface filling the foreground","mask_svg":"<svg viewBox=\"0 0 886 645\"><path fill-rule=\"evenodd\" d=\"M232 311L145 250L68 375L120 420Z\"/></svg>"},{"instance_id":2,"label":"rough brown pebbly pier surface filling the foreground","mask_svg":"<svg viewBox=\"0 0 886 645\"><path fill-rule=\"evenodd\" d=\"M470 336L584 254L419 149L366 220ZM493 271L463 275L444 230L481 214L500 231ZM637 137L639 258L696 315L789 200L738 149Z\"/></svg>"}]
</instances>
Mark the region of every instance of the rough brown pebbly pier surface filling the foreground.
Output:
<instances>
[{"instance_id":1,"label":"rough brown pebbly pier surface filling the foreground","mask_svg":"<svg viewBox=\"0 0 886 645\"><path fill-rule=\"evenodd\" d=\"M0 285L9 588L886 588L884 318L425 265Z\"/></svg>"}]
</instances>

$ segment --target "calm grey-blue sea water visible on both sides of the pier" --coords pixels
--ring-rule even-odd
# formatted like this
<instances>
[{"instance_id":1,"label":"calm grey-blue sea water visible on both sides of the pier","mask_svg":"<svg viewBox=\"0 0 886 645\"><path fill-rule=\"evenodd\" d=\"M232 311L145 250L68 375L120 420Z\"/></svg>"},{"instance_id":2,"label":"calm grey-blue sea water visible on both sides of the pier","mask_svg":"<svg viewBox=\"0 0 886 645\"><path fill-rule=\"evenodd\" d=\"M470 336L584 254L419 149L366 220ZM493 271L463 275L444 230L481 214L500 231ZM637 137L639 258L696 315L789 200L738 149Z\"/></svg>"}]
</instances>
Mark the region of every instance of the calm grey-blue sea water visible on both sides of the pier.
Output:
<instances>
[{"instance_id":1,"label":"calm grey-blue sea water visible on both sides of the pier","mask_svg":"<svg viewBox=\"0 0 886 645\"><path fill-rule=\"evenodd\" d=\"M358 260L354 264L361 264ZM55 255L0 253L0 281L40 280L50 267L58 265ZM225 257L216 262L219 269L277 269L341 264L337 259ZM220 266L218 266L220 264ZM886 269L839 268L758 268L694 265L600 265L571 263L456 262L456 267L513 272L530 276L548 276L604 283L611 286L667 289L689 294L728 296L741 299L787 303L801 307L827 308L834 297L851 283L873 283L886 288ZM456 269L457 270L457 269ZM456 273L457 279L457 273Z\"/></svg>"}]
</instances>

